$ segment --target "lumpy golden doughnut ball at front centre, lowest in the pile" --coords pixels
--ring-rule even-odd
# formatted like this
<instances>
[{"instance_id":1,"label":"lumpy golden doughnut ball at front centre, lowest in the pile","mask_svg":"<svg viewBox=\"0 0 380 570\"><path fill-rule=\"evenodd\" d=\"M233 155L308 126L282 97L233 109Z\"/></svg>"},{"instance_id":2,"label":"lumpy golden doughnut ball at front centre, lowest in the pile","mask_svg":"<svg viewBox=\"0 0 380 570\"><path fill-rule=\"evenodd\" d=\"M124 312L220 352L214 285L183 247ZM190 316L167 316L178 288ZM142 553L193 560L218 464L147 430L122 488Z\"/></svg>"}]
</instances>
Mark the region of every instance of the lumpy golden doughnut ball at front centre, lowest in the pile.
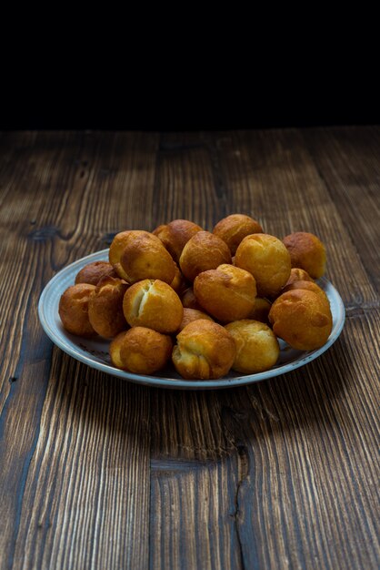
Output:
<instances>
[{"instance_id":1,"label":"lumpy golden doughnut ball at front centre, lowest in the pile","mask_svg":"<svg viewBox=\"0 0 380 570\"><path fill-rule=\"evenodd\" d=\"M186 380L225 376L235 360L235 341L225 328L211 321L190 322L177 335L172 360Z\"/></svg>"}]
</instances>

